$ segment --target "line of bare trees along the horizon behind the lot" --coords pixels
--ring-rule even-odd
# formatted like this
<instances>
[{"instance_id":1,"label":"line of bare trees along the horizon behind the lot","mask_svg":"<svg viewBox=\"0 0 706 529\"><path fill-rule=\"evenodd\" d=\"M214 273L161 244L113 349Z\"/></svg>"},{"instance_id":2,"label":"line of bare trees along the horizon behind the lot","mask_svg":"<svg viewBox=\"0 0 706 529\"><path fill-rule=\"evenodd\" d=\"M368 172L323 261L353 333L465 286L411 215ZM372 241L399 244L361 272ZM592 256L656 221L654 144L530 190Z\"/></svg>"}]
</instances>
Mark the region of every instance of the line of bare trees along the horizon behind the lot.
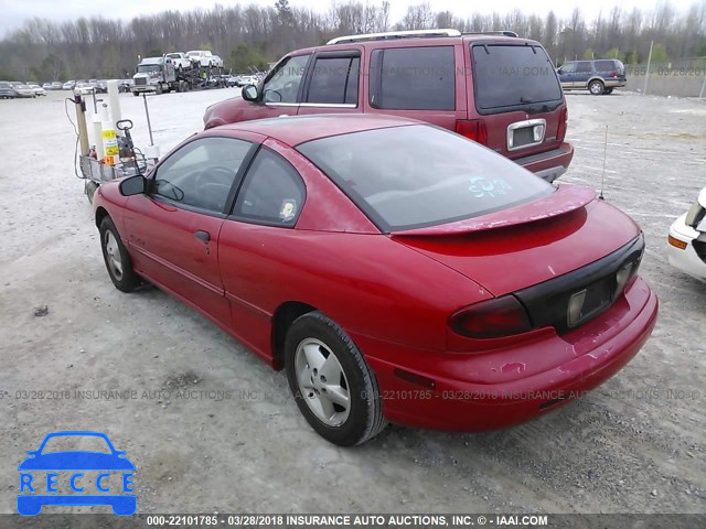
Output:
<instances>
[{"instance_id":1,"label":"line of bare trees along the horizon behind the lot","mask_svg":"<svg viewBox=\"0 0 706 529\"><path fill-rule=\"evenodd\" d=\"M261 71L291 50L320 45L336 35L430 28L514 31L539 41L557 64L593 57L644 64L651 42L655 63L706 56L706 0L685 12L668 1L650 10L624 11L616 6L592 20L586 20L579 8L564 19L553 11L537 15L520 10L459 18L418 3L409 6L399 21L391 20L388 1L332 0L325 12L318 12L277 0L271 7L216 4L129 21L34 18L0 41L0 79L125 77L131 76L138 55L189 50L213 51L234 73Z\"/></svg>"}]
</instances>

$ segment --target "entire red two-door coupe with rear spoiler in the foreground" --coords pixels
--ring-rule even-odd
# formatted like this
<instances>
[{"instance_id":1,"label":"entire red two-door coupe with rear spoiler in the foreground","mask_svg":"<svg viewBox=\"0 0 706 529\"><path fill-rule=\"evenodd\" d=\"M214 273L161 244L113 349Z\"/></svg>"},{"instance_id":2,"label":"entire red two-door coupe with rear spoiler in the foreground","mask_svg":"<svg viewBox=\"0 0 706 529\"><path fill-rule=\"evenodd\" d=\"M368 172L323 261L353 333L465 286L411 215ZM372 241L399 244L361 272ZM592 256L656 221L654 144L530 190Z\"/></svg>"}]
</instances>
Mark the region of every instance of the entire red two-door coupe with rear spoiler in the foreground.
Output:
<instances>
[{"instance_id":1,"label":"entire red two-door coupe with rear spoiler in the foreground","mask_svg":"<svg viewBox=\"0 0 706 529\"><path fill-rule=\"evenodd\" d=\"M341 445L531 419L614 375L657 314L627 215L408 119L217 127L94 207L118 289L146 279L284 366Z\"/></svg>"}]
</instances>

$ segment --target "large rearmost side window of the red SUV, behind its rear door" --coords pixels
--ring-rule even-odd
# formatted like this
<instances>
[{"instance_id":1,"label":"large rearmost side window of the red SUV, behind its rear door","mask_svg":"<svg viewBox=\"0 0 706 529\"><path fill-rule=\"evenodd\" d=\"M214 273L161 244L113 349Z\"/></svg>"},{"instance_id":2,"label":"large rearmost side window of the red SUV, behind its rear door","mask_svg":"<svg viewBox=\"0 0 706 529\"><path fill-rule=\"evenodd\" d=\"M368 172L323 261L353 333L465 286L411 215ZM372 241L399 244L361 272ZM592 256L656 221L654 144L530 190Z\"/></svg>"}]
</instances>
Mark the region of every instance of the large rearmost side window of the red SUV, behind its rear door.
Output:
<instances>
[{"instance_id":1,"label":"large rearmost side window of the red SUV, behind its rear door","mask_svg":"<svg viewBox=\"0 0 706 529\"><path fill-rule=\"evenodd\" d=\"M453 46L375 50L371 106L391 110L456 108Z\"/></svg>"}]
</instances>

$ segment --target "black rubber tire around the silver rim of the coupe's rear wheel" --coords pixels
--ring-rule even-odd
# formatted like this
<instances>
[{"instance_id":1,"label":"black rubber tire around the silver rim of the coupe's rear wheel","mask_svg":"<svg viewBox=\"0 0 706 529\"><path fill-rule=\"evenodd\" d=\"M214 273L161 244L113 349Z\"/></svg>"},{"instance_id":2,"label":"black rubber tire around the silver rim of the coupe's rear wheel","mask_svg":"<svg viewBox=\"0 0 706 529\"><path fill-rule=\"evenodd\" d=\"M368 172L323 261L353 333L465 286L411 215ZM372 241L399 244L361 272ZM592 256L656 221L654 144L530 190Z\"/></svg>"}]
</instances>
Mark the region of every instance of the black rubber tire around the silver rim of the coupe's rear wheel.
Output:
<instances>
[{"instance_id":1,"label":"black rubber tire around the silver rim of the coupe's rear wheel","mask_svg":"<svg viewBox=\"0 0 706 529\"><path fill-rule=\"evenodd\" d=\"M333 354L342 371L342 378L338 382L341 387L344 382L346 386L350 408L343 422L336 425L327 424L319 419L307 402L310 398L319 399L318 396L321 393L317 392L314 397L311 390L302 390L298 381L297 354L300 346L311 341L323 344L319 350L324 355ZM289 327L285 341L285 368L299 411L311 428L327 441L340 446L354 446L374 438L385 428L375 375L345 331L321 312L304 314ZM317 369L312 369L311 373L315 375ZM319 378L327 381L323 375ZM325 395L325 389L321 391Z\"/></svg>"}]
</instances>

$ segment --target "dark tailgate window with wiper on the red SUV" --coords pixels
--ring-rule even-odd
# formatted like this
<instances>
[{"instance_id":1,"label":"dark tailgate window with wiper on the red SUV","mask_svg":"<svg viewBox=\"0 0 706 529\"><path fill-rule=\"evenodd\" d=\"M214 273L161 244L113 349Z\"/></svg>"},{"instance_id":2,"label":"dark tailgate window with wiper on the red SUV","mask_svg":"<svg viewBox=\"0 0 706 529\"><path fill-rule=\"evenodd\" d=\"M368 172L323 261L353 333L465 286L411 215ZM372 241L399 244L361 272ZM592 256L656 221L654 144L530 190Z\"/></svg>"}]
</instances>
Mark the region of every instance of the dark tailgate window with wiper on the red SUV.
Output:
<instances>
[{"instance_id":1,"label":"dark tailgate window with wiper on the red SUV","mask_svg":"<svg viewBox=\"0 0 706 529\"><path fill-rule=\"evenodd\" d=\"M474 44L475 107L482 114L561 100L554 65L538 45Z\"/></svg>"}]
</instances>

